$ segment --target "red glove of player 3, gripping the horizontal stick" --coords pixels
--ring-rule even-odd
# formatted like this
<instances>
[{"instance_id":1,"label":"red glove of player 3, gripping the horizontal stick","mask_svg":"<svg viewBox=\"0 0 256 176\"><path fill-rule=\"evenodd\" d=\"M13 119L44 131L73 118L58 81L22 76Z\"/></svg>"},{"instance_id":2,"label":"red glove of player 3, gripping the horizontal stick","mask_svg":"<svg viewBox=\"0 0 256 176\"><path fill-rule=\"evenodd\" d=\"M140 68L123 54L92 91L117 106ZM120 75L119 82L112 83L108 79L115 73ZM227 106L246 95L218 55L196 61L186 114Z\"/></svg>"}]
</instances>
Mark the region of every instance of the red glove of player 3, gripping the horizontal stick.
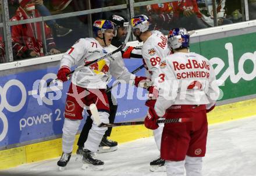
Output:
<instances>
[{"instance_id":1,"label":"red glove of player 3, gripping the horizontal stick","mask_svg":"<svg viewBox=\"0 0 256 176\"><path fill-rule=\"evenodd\" d=\"M158 118L159 117L157 116L157 113L155 112L154 107L150 107L148 109L147 116L145 117L145 120L144 120L145 127L151 130L157 129L159 127L159 125L157 124Z\"/></svg>"}]
</instances>

